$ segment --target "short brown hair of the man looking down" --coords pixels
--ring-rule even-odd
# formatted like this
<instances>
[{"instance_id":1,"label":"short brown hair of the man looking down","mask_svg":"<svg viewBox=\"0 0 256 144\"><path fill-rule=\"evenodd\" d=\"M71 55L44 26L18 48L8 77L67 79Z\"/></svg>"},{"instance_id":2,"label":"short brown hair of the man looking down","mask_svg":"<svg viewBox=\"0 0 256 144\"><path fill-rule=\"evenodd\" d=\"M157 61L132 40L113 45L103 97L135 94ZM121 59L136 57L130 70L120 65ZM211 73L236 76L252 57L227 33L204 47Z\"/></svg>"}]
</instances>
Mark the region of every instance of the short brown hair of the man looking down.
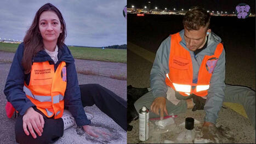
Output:
<instances>
[{"instance_id":1,"label":"short brown hair of the man looking down","mask_svg":"<svg viewBox=\"0 0 256 144\"><path fill-rule=\"evenodd\" d=\"M193 9L187 11L183 18L183 26L188 31L190 30L199 30L200 27L207 26L207 29L210 25L211 15L201 7L194 7Z\"/></svg>"}]
</instances>

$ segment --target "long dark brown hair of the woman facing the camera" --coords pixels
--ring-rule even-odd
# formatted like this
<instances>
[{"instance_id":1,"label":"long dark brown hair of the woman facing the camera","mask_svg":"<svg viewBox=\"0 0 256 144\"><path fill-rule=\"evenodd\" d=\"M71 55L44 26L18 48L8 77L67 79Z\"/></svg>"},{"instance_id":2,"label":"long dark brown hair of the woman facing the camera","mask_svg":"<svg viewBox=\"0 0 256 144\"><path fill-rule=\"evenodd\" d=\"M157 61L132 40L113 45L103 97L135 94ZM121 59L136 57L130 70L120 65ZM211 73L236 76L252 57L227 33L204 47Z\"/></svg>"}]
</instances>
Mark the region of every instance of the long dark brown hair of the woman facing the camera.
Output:
<instances>
[{"instance_id":1,"label":"long dark brown hair of the woman facing the camera","mask_svg":"<svg viewBox=\"0 0 256 144\"><path fill-rule=\"evenodd\" d=\"M66 38L66 24L62 17L62 14L60 13L59 9L57 9L53 4L44 4L41 8L38 9L32 25L30 26L29 30L27 30L26 36L24 37L24 53L22 57L22 66L24 67L25 74L28 74L31 71L32 57L35 56L38 51L44 49L43 38L39 31L39 18L44 11L48 10L53 11L60 19L62 32L58 37L57 45L59 48L64 45L64 41Z\"/></svg>"}]
</instances>

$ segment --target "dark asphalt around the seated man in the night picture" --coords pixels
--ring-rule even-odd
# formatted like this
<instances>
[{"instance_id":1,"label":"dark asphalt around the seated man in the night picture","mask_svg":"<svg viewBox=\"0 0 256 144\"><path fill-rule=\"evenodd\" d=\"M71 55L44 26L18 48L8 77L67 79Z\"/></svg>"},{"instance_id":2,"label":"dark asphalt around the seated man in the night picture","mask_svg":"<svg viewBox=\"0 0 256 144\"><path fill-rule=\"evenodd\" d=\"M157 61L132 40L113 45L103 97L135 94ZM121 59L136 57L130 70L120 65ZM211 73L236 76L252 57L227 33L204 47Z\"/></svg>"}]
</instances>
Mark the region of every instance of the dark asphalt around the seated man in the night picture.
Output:
<instances>
[{"instance_id":1,"label":"dark asphalt around the seated man in the night picture","mask_svg":"<svg viewBox=\"0 0 256 144\"><path fill-rule=\"evenodd\" d=\"M181 15L145 15L139 17L128 14L127 22L127 85L133 87L150 87L150 71L153 59L152 53L156 51L161 42L169 36L183 29L183 16ZM225 83L243 85L255 90L255 17L237 19L236 17L213 16L211 29L224 42L226 52L226 78ZM141 51L144 51L142 53ZM147 53L147 55L144 55ZM180 114L179 120L185 117L194 117L202 123L204 111L187 111ZM172 131L167 134L150 137L149 141L141 142L138 138L138 122L134 120L133 130L127 133L128 143L162 143L172 140L177 135ZM178 122L179 123L179 122ZM217 126L225 126L234 134L235 143L255 143L255 129L249 120L241 114L223 109L219 113ZM179 129L180 131L184 130ZM179 133L180 131L174 131ZM155 141L154 141L155 140Z\"/></svg>"}]
</instances>

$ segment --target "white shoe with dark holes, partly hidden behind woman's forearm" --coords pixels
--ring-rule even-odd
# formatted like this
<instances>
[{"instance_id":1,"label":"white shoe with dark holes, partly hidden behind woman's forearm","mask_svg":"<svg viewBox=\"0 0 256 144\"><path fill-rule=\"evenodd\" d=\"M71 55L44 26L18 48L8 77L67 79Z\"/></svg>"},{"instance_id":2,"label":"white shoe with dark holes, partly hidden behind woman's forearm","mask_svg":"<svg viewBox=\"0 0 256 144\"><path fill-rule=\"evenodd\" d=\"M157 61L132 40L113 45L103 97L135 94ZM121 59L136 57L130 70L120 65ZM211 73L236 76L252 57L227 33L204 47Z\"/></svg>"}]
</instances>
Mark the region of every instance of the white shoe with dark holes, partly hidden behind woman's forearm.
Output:
<instances>
[{"instance_id":1,"label":"white shoe with dark holes, partly hidden behind woman's forearm","mask_svg":"<svg viewBox=\"0 0 256 144\"><path fill-rule=\"evenodd\" d=\"M86 112L87 119L92 120L93 113L89 111L85 111L85 112ZM73 125L76 125L75 118L72 116L69 110L64 110L61 118L64 123L64 130L70 128Z\"/></svg>"}]
</instances>

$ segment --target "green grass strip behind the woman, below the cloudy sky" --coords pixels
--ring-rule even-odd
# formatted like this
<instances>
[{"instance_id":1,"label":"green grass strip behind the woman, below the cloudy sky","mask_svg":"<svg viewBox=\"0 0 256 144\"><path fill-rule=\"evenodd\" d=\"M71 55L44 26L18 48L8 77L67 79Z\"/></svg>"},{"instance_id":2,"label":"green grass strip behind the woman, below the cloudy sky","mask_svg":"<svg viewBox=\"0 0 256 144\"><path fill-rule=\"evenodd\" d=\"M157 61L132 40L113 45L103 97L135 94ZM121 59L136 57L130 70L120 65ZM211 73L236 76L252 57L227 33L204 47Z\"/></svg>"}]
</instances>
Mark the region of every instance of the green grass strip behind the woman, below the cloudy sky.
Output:
<instances>
[{"instance_id":1,"label":"green grass strip behind the woman, below the cloudy sky","mask_svg":"<svg viewBox=\"0 0 256 144\"><path fill-rule=\"evenodd\" d=\"M8 51L15 53L19 44L1 43L0 51ZM126 49L100 49L87 47L69 47L72 55L76 59L98 60L110 62L127 62Z\"/></svg>"}]
</instances>

